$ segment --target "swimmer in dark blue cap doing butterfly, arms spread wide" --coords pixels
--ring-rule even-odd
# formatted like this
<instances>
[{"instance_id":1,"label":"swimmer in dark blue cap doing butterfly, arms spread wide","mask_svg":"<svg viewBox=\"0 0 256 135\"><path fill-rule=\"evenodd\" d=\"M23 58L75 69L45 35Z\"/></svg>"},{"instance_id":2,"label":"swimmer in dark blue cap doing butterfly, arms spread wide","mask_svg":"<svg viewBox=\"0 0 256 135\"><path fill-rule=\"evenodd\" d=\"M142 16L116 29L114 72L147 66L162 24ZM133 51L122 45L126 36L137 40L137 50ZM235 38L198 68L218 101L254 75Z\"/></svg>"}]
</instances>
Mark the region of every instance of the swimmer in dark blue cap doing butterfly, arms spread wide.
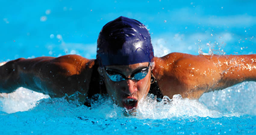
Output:
<instances>
[{"instance_id":1,"label":"swimmer in dark blue cap doing butterfly, arms spread wide","mask_svg":"<svg viewBox=\"0 0 256 135\"><path fill-rule=\"evenodd\" d=\"M147 28L123 16L101 29L96 59L64 55L19 58L1 65L0 93L25 87L55 98L78 91L80 101L107 94L128 110L149 93L198 99L205 92L256 79L256 55L172 52L155 57Z\"/></svg>"}]
</instances>

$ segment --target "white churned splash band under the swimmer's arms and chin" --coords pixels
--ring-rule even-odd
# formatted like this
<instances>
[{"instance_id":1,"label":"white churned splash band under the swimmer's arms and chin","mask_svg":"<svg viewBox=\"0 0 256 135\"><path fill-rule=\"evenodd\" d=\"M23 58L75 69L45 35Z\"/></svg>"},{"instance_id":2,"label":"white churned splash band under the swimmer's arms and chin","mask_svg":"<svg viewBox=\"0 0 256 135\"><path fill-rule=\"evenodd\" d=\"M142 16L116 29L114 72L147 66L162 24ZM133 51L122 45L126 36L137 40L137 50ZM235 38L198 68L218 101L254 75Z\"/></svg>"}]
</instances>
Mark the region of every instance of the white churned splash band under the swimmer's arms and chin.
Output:
<instances>
[{"instance_id":1,"label":"white churned splash band under the swimmer's arms and chin","mask_svg":"<svg viewBox=\"0 0 256 135\"><path fill-rule=\"evenodd\" d=\"M239 117L244 114L255 115L255 91L256 82L243 82L238 85L220 91L205 93L199 100L182 98L174 95L172 99L164 96L158 102L153 95L149 95L139 102L134 116L137 119L170 119L186 117ZM2 94L0 98L0 111L15 113L18 111L39 111L49 115L69 114L73 116L90 116L97 118L123 118L127 116L125 109L118 107L106 96L98 96L92 107L79 105L76 96L73 101L67 101L67 97L48 98L48 95L33 92L25 88L19 88L11 94ZM43 99L48 98L48 99ZM40 100L40 101L39 101ZM39 101L39 102L38 102ZM31 109L32 108L32 109Z\"/></svg>"}]
</instances>

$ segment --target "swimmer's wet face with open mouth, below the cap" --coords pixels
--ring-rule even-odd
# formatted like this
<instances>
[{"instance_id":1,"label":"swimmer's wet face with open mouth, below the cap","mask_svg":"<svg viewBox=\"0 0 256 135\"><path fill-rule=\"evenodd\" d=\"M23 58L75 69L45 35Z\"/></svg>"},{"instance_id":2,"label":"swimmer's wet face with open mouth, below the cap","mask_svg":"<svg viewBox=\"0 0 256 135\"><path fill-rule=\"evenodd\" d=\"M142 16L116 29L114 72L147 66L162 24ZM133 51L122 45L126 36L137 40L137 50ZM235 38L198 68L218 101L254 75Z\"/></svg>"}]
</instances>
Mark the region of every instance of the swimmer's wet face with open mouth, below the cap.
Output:
<instances>
[{"instance_id":1,"label":"swimmer's wet face with open mouth, below the cap","mask_svg":"<svg viewBox=\"0 0 256 135\"><path fill-rule=\"evenodd\" d=\"M111 96L115 104L130 110L137 107L138 101L147 96L151 83L151 66L148 67L148 65L149 62L143 62L131 65L111 65L102 68L108 95ZM140 80L125 79L115 82L107 75L108 72L113 71L114 73L119 73L127 78L131 78L136 73L146 70L147 67L148 72L146 76Z\"/></svg>"}]
</instances>

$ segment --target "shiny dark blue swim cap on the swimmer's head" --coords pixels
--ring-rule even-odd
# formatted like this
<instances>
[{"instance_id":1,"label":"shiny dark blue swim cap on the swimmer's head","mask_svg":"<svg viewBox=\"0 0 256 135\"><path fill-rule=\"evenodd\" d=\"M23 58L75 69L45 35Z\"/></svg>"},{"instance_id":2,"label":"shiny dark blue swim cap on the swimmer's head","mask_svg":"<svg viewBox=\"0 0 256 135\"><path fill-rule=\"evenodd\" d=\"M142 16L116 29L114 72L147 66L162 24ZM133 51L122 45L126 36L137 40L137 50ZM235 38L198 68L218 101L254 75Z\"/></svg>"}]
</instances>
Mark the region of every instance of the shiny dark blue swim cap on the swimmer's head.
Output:
<instances>
[{"instance_id":1,"label":"shiny dark blue swim cap on the swimmer's head","mask_svg":"<svg viewBox=\"0 0 256 135\"><path fill-rule=\"evenodd\" d=\"M101 29L96 57L100 66L152 62L150 34L141 22L120 16Z\"/></svg>"}]
</instances>

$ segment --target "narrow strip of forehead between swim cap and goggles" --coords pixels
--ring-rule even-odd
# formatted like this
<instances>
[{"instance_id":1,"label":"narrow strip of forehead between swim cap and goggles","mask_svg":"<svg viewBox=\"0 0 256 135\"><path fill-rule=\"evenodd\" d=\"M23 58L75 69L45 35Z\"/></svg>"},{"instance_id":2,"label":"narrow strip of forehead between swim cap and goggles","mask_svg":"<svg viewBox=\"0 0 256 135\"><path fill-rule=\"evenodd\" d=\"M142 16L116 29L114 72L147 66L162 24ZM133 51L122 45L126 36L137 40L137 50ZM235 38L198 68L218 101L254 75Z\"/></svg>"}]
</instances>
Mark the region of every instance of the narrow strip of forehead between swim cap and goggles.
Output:
<instances>
[{"instance_id":1,"label":"narrow strip of forehead between swim cap and goggles","mask_svg":"<svg viewBox=\"0 0 256 135\"><path fill-rule=\"evenodd\" d=\"M147 67L148 62L142 62L142 63L136 63L136 64L130 64L130 65L111 65L111 66L105 66L107 69L114 69L119 71L133 71L141 67Z\"/></svg>"}]
</instances>

